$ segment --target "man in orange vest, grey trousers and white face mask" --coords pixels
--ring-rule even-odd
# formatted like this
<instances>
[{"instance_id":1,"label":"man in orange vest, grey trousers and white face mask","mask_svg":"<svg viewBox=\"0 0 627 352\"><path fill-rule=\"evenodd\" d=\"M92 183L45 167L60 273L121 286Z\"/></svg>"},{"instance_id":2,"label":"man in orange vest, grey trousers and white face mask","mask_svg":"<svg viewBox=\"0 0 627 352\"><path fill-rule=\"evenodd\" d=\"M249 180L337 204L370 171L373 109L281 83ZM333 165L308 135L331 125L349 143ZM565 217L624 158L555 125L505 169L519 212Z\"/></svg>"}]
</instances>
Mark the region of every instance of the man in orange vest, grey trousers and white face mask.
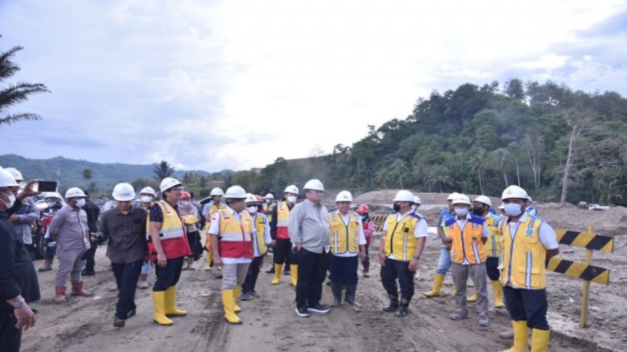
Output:
<instances>
[{"instance_id":1,"label":"man in orange vest, grey trousers and white face mask","mask_svg":"<svg viewBox=\"0 0 627 352\"><path fill-rule=\"evenodd\" d=\"M446 231L451 237L451 262L453 262L453 282L455 282L455 304L457 311L451 315L453 320L468 318L466 309L466 283L468 276L478 292L477 313L479 325L490 326L488 319L488 287L485 275L485 251L483 244L488 237L485 219L470 214L472 202L465 194L453 199L455 218L445 221Z\"/></svg>"}]
</instances>

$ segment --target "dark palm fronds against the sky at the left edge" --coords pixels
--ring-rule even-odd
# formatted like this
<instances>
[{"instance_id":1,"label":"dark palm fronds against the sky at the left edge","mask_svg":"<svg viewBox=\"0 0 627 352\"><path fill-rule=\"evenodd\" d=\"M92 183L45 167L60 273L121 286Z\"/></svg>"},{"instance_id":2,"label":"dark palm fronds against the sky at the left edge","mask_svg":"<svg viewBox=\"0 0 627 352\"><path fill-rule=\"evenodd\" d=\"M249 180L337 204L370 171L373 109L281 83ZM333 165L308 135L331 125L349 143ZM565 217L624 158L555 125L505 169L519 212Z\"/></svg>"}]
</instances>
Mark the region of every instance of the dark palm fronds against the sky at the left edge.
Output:
<instances>
[{"instance_id":1,"label":"dark palm fronds against the sky at the left edge","mask_svg":"<svg viewBox=\"0 0 627 352\"><path fill-rule=\"evenodd\" d=\"M0 39L2 36L0 35ZM0 52L0 84L11 78L17 71L19 66L11 61L13 56L24 49L21 46L15 46L9 51ZM11 125L11 123L40 120L41 116L36 113L9 113L9 108L28 100L30 95L35 93L50 93L48 88L41 83L17 82L8 86L0 85L0 126Z\"/></svg>"}]
</instances>

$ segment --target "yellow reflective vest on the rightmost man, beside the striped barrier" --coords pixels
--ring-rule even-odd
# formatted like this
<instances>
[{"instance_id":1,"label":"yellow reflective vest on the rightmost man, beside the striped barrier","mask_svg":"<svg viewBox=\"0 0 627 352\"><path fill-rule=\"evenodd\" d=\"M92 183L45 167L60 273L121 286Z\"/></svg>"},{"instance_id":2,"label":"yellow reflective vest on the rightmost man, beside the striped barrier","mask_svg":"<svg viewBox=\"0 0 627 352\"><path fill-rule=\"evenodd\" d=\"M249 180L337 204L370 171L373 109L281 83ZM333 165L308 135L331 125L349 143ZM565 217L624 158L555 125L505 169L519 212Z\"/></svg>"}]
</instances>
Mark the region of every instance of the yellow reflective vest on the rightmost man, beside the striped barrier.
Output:
<instances>
[{"instance_id":1,"label":"yellow reflective vest on the rightmost man, beside the striped barrier","mask_svg":"<svg viewBox=\"0 0 627 352\"><path fill-rule=\"evenodd\" d=\"M509 281L524 289L543 289L546 286L546 249L539 236L542 222L542 219L527 215L519 223L514 239L510 234L509 223L500 223L498 228L503 254L499 267L503 285Z\"/></svg>"}]
</instances>

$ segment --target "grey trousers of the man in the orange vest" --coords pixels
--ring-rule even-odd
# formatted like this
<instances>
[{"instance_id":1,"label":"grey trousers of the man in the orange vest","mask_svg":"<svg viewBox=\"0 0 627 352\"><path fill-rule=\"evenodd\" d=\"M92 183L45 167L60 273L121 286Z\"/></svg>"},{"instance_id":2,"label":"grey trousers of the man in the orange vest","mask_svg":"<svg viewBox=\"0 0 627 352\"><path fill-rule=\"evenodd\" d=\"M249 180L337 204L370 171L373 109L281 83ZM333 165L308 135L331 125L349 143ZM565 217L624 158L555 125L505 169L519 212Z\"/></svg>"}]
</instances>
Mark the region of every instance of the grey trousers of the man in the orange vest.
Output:
<instances>
[{"instance_id":1,"label":"grey trousers of the man in the orange vest","mask_svg":"<svg viewBox=\"0 0 627 352\"><path fill-rule=\"evenodd\" d=\"M477 290L477 313L488 313L488 286L487 275L485 273L485 263L461 265L453 263L453 281L457 292L455 292L455 304L457 308L466 309L466 282L468 276L472 277L472 282Z\"/></svg>"}]
</instances>

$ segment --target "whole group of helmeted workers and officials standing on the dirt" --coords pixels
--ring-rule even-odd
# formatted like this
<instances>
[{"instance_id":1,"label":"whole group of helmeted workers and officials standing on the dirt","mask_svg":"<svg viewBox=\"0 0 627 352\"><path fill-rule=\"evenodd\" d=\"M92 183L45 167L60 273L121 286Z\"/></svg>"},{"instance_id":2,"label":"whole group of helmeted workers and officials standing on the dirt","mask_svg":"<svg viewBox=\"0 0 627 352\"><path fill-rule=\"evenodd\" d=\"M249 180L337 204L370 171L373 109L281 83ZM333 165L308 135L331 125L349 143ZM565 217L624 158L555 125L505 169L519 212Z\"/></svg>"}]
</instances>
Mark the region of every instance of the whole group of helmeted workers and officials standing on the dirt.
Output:
<instances>
[{"instance_id":1,"label":"whole group of helmeted workers and officials standing on the dirt","mask_svg":"<svg viewBox=\"0 0 627 352\"><path fill-rule=\"evenodd\" d=\"M34 182L20 185L0 168L0 338L18 346L13 350L19 350L21 329L34 324L28 303L40 298L32 261L26 260L23 236L9 222L23 202L38 194L33 190ZM271 194L262 199L238 185L225 192L216 188L211 190L211 200L201 207L192 202L181 182L167 177L161 181L160 200L154 189L145 187L139 192L141 205L137 206L133 205L137 196L134 187L120 183L112 192L115 207L100 214L97 230L90 230L88 225L83 209L85 192L68 189L65 205L53 194L46 194L46 251L54 247L59 261L54 300L65 301L68 275L72 295L92 295L83 287L85 253L93 244L107 242L107 257L119 291L113 326L122 328L125 320L135 315L135 289L147 287L151 263L156 276L153 320L172 325L172 316L187 314L176 306L181 272L194 269L192 264L204 247L208 252L206 269L220 268L224 319L242 324L237 301L260 297L255 291L256 281L263 257L272 246L271 284L280 284L284 267L288 269L298 316L329 313L330 308L321 303L327 272L330 306L338 307L343 300L359 311L359 262L362 276L370 276L368 251L374 232L370 209L362 204L352 210L352 195L344 190L335 199L337 209L329 212L322 205L322 182L309 180L303 189L305 199L300 202L295 185L289 185L282 200L275 202ZM549 341L545 262L559 252L556 234L547 222L529 214L530 197L524 189L507 187L501 199L502 214L498 216L492 214L492 202L483 195L474 200L458 193L448 197L449 209L440 214L436 224L443 247L433 289L424 295L440 296L445 274L452 268L456 311L451 319L468 318L466 303L476 301L478 324L487 326L489 277L495 307L505 306L512 320L514 346L510 351L527 350L529 329L532 351L545 351ZM382 310L404 317L414 296L414 274L428 237L428 224L418 212L419 197L408 190L399 191L393 202L394 212L383 224L378 252L381 282L389 298ZM201 232L206 234L204 246ZM51 264L46 256L44 271ZM475 286L472 298L466 298L469 276Z\"/></svg>"}]
</instances>

